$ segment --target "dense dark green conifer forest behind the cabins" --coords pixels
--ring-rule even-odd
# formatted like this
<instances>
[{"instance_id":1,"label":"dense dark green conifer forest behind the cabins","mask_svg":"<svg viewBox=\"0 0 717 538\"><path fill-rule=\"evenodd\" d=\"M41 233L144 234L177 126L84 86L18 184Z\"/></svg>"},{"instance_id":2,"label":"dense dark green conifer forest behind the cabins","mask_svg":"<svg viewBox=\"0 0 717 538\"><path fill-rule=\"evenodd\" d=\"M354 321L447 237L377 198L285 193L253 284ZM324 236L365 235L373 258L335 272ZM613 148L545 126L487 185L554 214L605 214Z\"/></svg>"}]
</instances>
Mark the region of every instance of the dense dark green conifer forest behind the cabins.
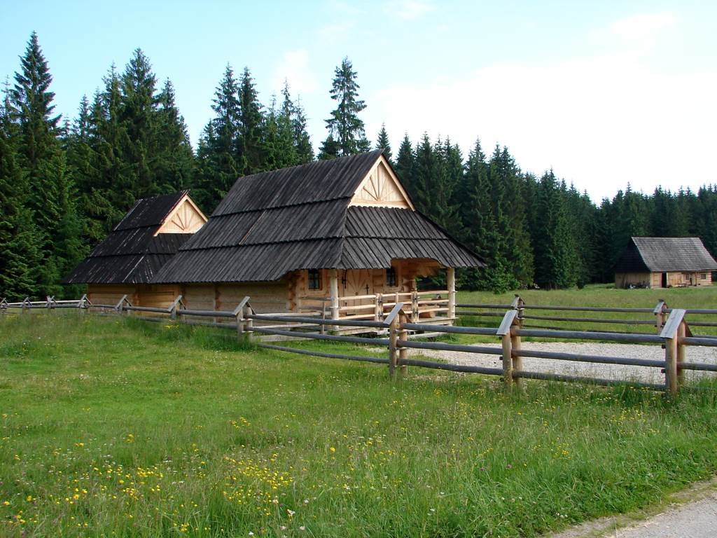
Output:
<instances>
[{"instance_id":1,"label":"dense dark green conifer forest behind the cabins","mask_svg":"<svg viewBox=\"0 0 717 538\"><path fill-rule=\"evenodd\" d=\"M458 275L462 288L607 282L632 235L698 236L717 254L712 185L643 194L628 184L596 204L554 171L523 171L508 148L483 148L478 138L467 155L428 133L391 148L385 127L371 143L348 58L327 81L336 108L315 155L288 85L262 103L249 68L237 74L227 65L219 75L206 96L214 116L192 148L171 81L157 80L141 49L122 70L110 66L72 121L57 115L32 34L0 103L0 296L77 296L60 280L138 198L191 189L209 214L239 176L371 148L384 149L417 209L487 261Z\"/></svg>"}]
</instances>

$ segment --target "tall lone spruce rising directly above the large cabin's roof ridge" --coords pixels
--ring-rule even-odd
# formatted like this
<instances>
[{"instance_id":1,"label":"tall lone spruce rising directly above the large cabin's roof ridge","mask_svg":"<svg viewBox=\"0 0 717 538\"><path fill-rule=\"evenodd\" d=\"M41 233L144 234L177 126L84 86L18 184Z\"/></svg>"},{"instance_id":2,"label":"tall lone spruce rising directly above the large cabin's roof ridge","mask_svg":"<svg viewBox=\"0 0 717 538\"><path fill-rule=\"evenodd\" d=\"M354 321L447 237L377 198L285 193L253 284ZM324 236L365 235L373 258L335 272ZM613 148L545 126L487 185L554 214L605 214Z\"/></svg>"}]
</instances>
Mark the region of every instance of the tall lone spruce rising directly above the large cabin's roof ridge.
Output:
<instances>
[{"instance_id":1,"label":"tall lone spruce rising directly above the large cabin's roof ridge","mask_svg":"<svg viewBox=\"0 0 717 538\"><path fill-rule=\"evenodd\" d=\"M334 71L331 87L331 98L336 101L336 108L331 112L331 118L326 120L329 136L324 146L331 150L335 141L338 146L337 155L346 156L369 151L370 143L366 139L364 121L359 118L361 110L366 103L359 99L359 83L356 82L357 73L348 57ZM331 155L331 151L322 151L323 158Z\"/></svg>"}]
</instances>

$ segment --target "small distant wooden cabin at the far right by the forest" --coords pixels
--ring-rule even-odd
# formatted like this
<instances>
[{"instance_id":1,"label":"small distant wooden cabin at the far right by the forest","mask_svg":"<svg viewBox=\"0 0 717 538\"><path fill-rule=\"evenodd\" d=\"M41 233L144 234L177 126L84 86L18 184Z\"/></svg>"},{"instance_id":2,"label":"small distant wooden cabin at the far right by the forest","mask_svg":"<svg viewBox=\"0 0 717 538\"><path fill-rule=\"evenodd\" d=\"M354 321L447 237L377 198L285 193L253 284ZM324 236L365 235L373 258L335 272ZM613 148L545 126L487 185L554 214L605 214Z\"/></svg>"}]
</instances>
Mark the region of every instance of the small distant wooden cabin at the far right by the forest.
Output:
<instances>
[{"instance_id":1,"label":"small distant wooden cabin at the far right by the forest","mask_svg":"<svg viewBox=\"0 0 717 538\"><path fill-rule=\"evenodd\" d=\"M698 237L632 237L615 265L615 287L711 285L717 262Z\"/></svg>"}]
</instances>

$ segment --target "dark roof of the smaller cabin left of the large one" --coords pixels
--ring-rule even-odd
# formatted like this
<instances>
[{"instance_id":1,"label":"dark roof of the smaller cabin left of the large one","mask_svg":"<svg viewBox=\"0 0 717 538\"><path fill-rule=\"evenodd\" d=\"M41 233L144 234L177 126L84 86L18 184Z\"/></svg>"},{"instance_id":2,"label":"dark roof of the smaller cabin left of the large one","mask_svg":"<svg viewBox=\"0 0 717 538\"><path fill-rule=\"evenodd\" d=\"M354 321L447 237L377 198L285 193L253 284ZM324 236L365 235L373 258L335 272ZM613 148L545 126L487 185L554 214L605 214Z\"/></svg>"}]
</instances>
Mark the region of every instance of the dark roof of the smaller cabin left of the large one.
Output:
<instances>
[{"instance_id":1,"label":"dark roof of the smaller cabin left of the large one","mask_svg":"<svg viewBox=\"0 0 717 538\"><path fill-rule=\"evenodd\" d=\"M67 284L146 284L191 234L155 235L186 191L138 200L110 232L67 275Z\"/></svg>"}]
</instances>

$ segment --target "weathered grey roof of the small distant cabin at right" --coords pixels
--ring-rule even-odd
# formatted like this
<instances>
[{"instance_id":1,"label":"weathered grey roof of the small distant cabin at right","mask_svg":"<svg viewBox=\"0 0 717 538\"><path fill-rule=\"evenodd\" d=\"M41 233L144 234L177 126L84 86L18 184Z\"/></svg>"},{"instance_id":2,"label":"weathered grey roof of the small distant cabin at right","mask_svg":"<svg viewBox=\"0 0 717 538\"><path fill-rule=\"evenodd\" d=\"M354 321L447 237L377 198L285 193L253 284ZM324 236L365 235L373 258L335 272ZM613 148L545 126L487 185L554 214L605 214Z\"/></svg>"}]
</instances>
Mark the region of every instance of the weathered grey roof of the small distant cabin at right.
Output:
<instances>
[{"instance_id":1,"label":"weathered grey roof of the small distant cabin at right","mask_svg":"<svg viewBox=\"0 0 717 538\"><path fill-rule=\"evenodd\" d=\"M632 237L615 266L617 273L713 270L717 262L699 237Z\"/></svg>"}]
</instances>

